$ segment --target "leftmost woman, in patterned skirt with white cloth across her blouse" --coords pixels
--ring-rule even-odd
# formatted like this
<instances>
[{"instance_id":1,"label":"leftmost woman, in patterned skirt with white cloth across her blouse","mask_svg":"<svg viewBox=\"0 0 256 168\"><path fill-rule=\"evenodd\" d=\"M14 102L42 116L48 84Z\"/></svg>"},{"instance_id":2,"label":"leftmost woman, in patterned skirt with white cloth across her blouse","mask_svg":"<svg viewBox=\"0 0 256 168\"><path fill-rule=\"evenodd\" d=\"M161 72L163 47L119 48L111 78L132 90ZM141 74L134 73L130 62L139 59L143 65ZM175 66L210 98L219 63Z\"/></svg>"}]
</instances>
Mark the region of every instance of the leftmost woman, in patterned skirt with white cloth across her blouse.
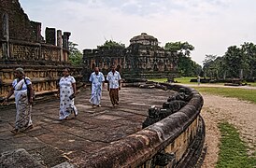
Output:
<instances>
[{"instance_id":1,"label":"leftmost woman, in patterned skirt with white cloth across her blouse","mask_svg":"<svg viewBox=\"0 0 256 168\"><path fill-rule=\"evenodd\" d=\"M10 132L19 133L33 128L31 112L34 91L32 89L30 78L24 76L24 70L22 68L17 68L14 71L14 75L16 78L12 82L12 88L7 94L5 103L7 103L9 97L14 93L16 104L16 121L15 128ZM28 90L32 93L29 97L27 94Z\"/></svg>"}]
</instances>

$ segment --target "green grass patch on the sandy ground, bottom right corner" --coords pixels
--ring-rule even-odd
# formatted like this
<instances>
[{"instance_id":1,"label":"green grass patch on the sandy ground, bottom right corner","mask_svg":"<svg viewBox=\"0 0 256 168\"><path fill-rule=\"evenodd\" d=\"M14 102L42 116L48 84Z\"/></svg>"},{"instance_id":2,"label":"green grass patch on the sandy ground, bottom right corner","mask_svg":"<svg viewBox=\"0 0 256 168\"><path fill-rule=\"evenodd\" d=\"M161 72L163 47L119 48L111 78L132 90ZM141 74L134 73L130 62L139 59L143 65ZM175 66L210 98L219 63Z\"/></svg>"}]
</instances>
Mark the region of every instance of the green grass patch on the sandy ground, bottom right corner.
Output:
<instances>
[{"instance_id":1,"label":"green grass patch on the sandy ground, bottom right corner","mask_svg":"<svg viewBox=\"0 0 256 168\"><path fill-rule=\"evenodd\" d=\"M216 167L255 167L256 160L248 156L247 146L240 139L235 127L228 122L221 122L219 128L221 133L220 154Z\"/></svg>"}]
</instances>

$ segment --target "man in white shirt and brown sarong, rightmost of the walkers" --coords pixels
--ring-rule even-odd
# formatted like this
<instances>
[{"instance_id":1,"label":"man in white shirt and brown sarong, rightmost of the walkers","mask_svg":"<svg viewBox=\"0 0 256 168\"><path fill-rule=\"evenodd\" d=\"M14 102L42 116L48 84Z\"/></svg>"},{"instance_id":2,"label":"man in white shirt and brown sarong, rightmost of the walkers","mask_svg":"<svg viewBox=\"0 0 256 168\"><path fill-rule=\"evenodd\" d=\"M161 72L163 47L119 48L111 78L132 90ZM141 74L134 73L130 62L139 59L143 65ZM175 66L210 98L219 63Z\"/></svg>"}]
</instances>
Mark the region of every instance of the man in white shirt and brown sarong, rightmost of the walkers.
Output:
<instances>
[{"instance_id":1,"label":"man in white shirt and brown sarong, rightmost of the walkers","mask_svg":"<svg viewBox=\"0 0 256 168\"><path fill-rule=\"evenodd\" d=\"M119 91L121 90L121 76L114 65L111 66L111 71L107 74L107 91L112 107L119 105Z\"/></svg>"}]
</instances>

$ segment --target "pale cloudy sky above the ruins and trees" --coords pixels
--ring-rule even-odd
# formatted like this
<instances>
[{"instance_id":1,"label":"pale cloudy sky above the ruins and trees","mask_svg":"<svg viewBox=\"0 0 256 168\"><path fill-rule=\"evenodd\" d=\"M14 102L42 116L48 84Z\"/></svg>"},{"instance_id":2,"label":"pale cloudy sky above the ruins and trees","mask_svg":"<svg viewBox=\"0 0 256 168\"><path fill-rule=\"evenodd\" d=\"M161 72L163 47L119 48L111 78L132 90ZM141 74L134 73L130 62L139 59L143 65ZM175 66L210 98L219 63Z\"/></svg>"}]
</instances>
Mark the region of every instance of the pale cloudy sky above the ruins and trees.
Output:
<instances>
[{"instance_id":1,"label":"pale cloudy sky above the ruins and trees","mask_svg":"<svg viewBox=\"0 0 256 168\"><path fill-rule=\"evenodd\" d=\"M168 42L188 42L191 57L223 56L231 46L256 44L255 0L20 0L31 21L71 32L78 49L96 49L106 40L130 45L147 33Z\"/></svg>"}]
</instances>

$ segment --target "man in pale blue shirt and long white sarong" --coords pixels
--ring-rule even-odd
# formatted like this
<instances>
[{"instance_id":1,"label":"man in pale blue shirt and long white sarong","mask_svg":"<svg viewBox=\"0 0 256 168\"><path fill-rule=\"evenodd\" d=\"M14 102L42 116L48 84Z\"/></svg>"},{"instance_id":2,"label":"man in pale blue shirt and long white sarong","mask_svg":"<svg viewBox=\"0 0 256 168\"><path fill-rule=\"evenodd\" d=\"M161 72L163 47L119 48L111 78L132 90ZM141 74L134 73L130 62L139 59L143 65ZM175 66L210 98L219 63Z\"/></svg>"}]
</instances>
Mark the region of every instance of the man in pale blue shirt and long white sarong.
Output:
<instances>
[{"instance_id":1,"label":"man in pale blue shirt and long white sarong","mask_svg":"<svg viewBox=\"0 0 256 168\"><path fill-rule=\"evenodd\" d=\"M92 82L92 96L90 103L92 104L92 107L101 106L102 87L104 86L105 77L99 71L98 67L94 68L94 72L92 72L89 81Z\"/></svg>"}]
</instances>

